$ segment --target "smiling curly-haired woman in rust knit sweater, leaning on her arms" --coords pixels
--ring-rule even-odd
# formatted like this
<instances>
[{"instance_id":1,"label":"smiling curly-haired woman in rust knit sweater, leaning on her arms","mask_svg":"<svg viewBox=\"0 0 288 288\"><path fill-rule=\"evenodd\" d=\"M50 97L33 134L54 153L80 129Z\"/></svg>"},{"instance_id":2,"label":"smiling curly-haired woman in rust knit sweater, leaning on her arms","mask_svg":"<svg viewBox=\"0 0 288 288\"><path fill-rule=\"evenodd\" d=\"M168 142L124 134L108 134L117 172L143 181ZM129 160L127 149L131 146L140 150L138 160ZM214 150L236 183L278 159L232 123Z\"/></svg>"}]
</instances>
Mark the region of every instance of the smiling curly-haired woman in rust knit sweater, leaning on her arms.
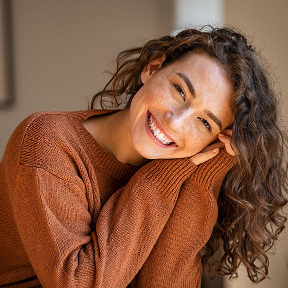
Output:
<instances>
[{"instance_id":1,"label":"smiling curly-haired woman in rust knit sweater, leaning on her arms","mask_svg":"<svg viewBox=\"0 0 288 288\"><path fill-rule=\"evenodd\" d=\"M201 262L264 279L285 221L286 140L245 38L191 29L124 51L97 99L127 106L36 113L11 136L0 284L200 287Z\"/></svg>"}]
</instances>

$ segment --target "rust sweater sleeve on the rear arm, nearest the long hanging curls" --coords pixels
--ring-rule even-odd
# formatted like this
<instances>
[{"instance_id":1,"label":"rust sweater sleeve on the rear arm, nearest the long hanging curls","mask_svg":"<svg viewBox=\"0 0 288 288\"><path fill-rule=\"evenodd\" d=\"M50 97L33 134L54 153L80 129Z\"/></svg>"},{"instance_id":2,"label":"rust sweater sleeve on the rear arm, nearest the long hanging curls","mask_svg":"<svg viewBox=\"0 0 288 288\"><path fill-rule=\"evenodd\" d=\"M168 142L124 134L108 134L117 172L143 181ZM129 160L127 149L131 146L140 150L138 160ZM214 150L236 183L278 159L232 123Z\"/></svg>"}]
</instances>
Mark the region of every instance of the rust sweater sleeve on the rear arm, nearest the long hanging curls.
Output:
<instances>
[{"instance_id":1,"label":"rust sweater sleeve on the rear arm, nearest the long hanging curls","mask_svg":"<svg viewBox=\"0 0 288 288\"><path fill-rule=\"evenodd\" d=\"M217 219L216 198L235 159L221 151L198 166L181 186L175 207L130 288L201 285L200 249Z\"/></svg>"}]
</instances>

